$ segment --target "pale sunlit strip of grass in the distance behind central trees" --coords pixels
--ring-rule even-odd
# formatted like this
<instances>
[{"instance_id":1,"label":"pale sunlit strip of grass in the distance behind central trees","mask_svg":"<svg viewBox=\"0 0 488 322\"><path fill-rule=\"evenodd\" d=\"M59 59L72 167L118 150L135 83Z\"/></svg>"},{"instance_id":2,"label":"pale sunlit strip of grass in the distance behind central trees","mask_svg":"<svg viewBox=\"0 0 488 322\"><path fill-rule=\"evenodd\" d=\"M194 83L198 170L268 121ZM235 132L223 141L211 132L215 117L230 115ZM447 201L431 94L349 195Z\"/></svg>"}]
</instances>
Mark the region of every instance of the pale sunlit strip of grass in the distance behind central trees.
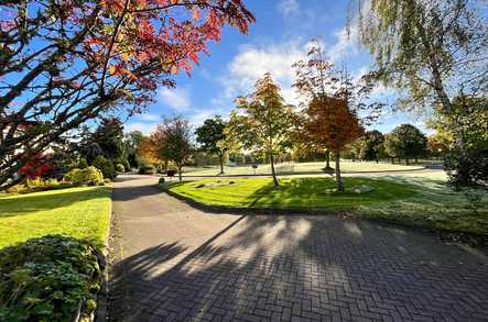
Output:
<instances>
[{"instance_id":1,"label":"pale sunlit strip of grass in the distance behind central trees","mask_svg":"<svg viewBox=\"0 0 488 322\"><path fill-rule=\"evenodd\" d=\"M334 163L330 163L334 166ZM322 168L325 167L325 162L316 163L281 163L276 165L276 171L279 174L322 174ZM389 163L375 163L375 162L350 162L341 160L340 167L344 173L365 173L365 171L404 171L404 170L417 170L423 169L422 165L398 165ZM220 171L218 166L209 167L185 167L183 169L184 175L188 176L216 176ZM256 169L257 175L268 175L271 173L270 165L258 165ZM253 175L254 169L250 165L225 167L226 175Z\"/></svg>"}]
</instances>

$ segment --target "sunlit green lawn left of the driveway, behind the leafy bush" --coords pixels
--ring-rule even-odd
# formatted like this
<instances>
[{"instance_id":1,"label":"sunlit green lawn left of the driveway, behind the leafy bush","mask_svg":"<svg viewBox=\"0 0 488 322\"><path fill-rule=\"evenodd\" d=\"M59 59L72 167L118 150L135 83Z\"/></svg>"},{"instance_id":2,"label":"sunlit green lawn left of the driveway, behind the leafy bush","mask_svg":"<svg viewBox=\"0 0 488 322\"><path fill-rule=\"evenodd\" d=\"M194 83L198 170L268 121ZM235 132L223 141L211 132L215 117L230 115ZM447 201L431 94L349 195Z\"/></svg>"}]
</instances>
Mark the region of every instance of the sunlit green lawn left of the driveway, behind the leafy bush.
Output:
<instances>
[{"instance_id":1,"label":"sunlit green lawn left of the driveway, behind the leafy bush","mask_svg":"<svg viewBox=\"0 0 488 322\"><path fill-rule=\"evenodd\" d=\"M83 187L0 197L0 248L47 234L105 244L110 188Z\"/></svg>"}]
</instances>

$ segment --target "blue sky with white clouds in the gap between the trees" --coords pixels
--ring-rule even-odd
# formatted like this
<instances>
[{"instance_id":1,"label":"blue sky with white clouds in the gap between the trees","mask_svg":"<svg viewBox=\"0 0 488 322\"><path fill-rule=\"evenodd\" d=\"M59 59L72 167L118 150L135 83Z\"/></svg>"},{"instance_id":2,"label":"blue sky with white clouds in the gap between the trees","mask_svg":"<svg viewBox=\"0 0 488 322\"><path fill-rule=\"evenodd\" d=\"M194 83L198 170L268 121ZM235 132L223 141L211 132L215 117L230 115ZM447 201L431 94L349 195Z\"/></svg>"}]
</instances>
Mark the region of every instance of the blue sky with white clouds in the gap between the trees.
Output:
<instances>
[{"instance_id":1,"label":"blue sky with white clouds in the gap between the trees","mask_svg":"<svg viewBox=\"0 0 488 322\"><path fill-rule=\"evenodd\" d=\"M191 77L177 78L176 89L161 88L156 102L140 115L132 116L126 131L149 134L163 115L183 114L194 126L215 114L226 118L234 108L234 98L252 91L252 85L271 71L290 103L297 103L291 88L294 71L291 65L303 58L313 37L325 44L328 58L344 62L354 75L367 70L371 60L357 44L355 29L347 36L345 24L348 1L333 0L245 0L257 22L249 34L226 29L218 44L210 44L210 56L202 56ZM381 88L377 97L390 104L390 90ZM419 116L384 111L372 127L389 132L400 123L423 127Z\"/></svg>"}]
</instances>

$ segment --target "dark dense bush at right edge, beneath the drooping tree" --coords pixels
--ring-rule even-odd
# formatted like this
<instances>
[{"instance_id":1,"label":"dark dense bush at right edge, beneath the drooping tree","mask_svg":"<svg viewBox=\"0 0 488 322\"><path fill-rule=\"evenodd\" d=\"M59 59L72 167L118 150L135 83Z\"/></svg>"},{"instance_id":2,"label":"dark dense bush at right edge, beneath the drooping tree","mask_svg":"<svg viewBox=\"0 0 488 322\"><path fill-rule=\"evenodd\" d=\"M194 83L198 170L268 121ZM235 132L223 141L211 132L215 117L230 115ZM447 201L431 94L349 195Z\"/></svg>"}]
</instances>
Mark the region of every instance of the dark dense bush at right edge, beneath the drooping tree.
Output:
<instances>
[{"instance_id":1,"label":"dark dense bush at right edge, beneath the drooping tree","mask_svg":"<svg viewBox=\"0 0 488 322\"><path fill-rule=\"evenodd\" d=\"M452 152L446 156L445 170L448 182L456 189L488 185L488 151L467 151L464 155Z\"/></svg>"}]
</instances>

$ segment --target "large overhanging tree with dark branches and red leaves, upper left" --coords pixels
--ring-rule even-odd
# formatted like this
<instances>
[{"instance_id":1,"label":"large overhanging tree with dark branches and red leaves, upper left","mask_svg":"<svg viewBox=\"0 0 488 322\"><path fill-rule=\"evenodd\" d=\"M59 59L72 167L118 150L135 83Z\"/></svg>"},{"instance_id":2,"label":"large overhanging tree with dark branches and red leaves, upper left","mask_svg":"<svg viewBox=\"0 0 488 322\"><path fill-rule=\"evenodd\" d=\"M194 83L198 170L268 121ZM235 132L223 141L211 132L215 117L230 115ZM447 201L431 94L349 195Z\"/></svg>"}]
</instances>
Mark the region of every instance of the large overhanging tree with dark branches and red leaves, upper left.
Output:
<instances>
[{"instance_id":1,"label":"large overhanging tree with dark branches and red leaves, upper left","mask_svg":"<svg viewBox=\"0 0 488 322\"><path fill-rule=\"evenodd\" d=\"M59 135L120 106L140 112L225 25L246 33L254 20L241 0L7 0L0 11L2 189Z\"/></svg>"}]
</instances>

